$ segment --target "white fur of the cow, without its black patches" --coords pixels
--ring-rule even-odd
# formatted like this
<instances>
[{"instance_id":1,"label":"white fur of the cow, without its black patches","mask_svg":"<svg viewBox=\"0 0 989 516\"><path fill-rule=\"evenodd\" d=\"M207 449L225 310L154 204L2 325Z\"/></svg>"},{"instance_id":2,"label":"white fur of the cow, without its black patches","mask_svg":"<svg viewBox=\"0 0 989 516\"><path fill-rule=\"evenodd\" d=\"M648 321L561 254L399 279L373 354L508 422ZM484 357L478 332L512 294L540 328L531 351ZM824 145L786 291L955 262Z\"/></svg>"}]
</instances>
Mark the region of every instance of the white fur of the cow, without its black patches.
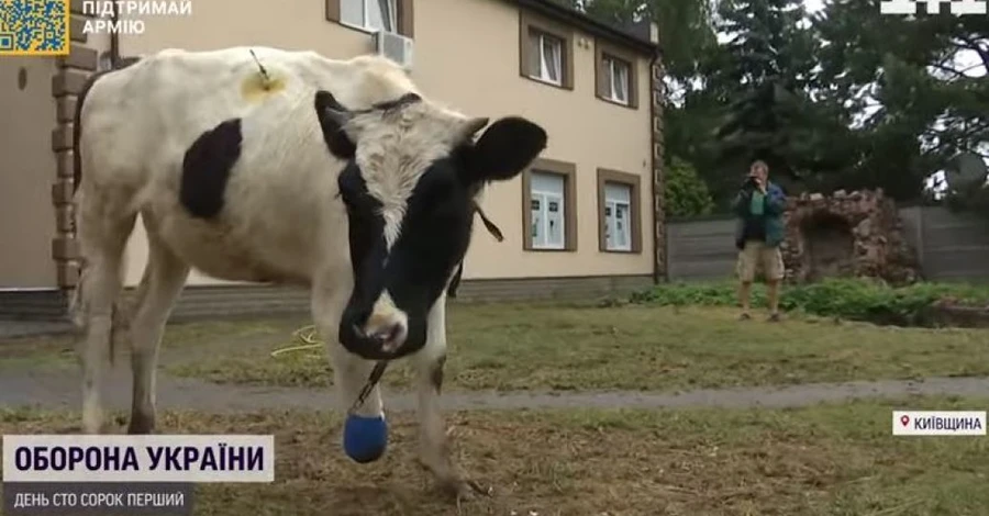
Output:
<instances>
[{"instance_id":1,"label":"white fur of the cow, without its black patches","mask_svg":"<svg viewBox=\"0 0 989 516\"><path fill-rule=\"evenodd\" d=\"M284 88L263 92L245 87L259 74L251 49ZM78 193L86 267L75 304L87 330L80 350L86 431L101 431L99 385L114 329L123 248L137 213L151 245L130 312L135 352L132 427L146 429L135 420L148 418L154 426L156 349L190 267L227 280L310 287L313 317L330 341L341 406L353 403L370 364L334 338L354 278L346 214L336 199L344 164L327 152L314 111L321 89L352 110L418 92L404 71L385 58L333 60L267 47L163 51L100 78L89 91L81 112ZM234 117L242 120L241 156L230 175L219 223L205 223L179 204L184 154L203 132ZM396 113L358 115L346 126L359 141L356 160L368 191L384 206L389 247L398 238L419 177L464 136L467 122L426 99ZM436 393L429 394L426 384L436 357L445 354L443 300L432 309L429 341L414 357L422 375L423 420L431 427L438 425L440 416ZM391 310L385 301L376 306ZM382 315L391 321L402 314ZM360 412L381 411L376 389ZM436 431L429 433L424 452L442 480L455 482L453 470L441 465L443 438Z\"/></svg>"}]
</instances>

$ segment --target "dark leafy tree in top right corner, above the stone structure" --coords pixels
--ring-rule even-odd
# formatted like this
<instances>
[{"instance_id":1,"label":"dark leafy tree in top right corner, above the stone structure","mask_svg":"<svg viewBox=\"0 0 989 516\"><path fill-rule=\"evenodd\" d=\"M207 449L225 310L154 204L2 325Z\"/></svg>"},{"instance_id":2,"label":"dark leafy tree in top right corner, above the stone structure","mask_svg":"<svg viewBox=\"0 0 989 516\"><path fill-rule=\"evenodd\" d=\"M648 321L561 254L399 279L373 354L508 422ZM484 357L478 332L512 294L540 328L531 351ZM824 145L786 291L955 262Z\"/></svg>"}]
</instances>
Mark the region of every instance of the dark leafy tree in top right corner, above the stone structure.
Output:
<instances>
[{"instance_id":1,"label":"dark leafy tree in top right corner, above the stone structure","mask_svg":"<svg viewBox=\"0 0 989 516\"><path fill-rule=\"evenodd\" d=\"M814 27L815 86L858 121L842 183L915 200L960 153L989 158L989 18L889 16L878 0L832 0ZM959 64L966 53L974 65Z\"/></svg>"}]
</instances>

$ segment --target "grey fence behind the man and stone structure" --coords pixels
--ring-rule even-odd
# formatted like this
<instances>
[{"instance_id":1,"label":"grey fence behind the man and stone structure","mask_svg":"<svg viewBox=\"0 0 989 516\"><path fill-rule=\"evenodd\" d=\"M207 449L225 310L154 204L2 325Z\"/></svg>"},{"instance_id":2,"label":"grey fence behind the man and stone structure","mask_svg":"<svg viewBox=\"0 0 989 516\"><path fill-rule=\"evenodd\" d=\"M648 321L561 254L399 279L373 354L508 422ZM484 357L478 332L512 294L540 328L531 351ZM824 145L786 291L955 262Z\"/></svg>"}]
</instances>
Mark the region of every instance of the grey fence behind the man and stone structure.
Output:
<instances>
[{"instance_id":1,"label":"grey fence behind the man and stone structure","mask_svg":"<svg viewBox=\"0 0 989 516\"><path fill-rule=\"evenodd\" d=\"M899 209L905 238L927 281L989 282L989 222L941 206ZM670 281L732 278L737 250L733 218L667 224Z\"/></svg>"}]
</instances>

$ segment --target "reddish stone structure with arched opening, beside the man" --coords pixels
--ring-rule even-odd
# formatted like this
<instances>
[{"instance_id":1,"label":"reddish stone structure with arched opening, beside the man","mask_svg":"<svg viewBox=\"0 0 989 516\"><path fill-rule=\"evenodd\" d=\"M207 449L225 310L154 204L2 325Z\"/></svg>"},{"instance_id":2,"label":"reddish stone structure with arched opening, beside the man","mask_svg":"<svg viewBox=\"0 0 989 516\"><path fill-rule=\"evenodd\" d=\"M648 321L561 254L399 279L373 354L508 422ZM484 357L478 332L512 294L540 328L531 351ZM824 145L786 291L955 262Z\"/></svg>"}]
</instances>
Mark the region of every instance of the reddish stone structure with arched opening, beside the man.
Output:
<instances>
[{"instance_id":1,"label":"reddish stone structure with arched opening, beside the man","mask_svg":"<svg viewBox=\"0 0 989 516\"><path fill-rule=\"evenodd\" d=\"M904 284L919 278L896 204L881 189L790 198L785 221L781 249L789 281L869 277Z\"/></svg>"}]
</instances>

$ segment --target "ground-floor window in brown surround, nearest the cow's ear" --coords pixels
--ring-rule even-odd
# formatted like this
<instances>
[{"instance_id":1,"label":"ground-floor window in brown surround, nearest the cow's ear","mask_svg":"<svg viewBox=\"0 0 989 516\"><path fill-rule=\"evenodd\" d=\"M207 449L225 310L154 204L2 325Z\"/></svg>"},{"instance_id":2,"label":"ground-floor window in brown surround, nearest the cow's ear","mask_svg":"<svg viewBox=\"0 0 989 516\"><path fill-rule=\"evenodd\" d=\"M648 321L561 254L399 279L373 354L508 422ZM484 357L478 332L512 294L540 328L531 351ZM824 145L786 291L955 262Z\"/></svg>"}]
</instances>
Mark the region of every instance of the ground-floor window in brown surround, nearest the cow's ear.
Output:
<instances>
[{"instance_id":1,"label":"ground-floor window in brown surround, nearest the cow's ear","mask_svg":"<svg viewBox=\"0 0 989 516\"><path fill-rule=\"evenodd\" d=\"M575 172L571 164L541 158L522 176L524 249L577 248Z\"/></svg>"}]
</instances>

